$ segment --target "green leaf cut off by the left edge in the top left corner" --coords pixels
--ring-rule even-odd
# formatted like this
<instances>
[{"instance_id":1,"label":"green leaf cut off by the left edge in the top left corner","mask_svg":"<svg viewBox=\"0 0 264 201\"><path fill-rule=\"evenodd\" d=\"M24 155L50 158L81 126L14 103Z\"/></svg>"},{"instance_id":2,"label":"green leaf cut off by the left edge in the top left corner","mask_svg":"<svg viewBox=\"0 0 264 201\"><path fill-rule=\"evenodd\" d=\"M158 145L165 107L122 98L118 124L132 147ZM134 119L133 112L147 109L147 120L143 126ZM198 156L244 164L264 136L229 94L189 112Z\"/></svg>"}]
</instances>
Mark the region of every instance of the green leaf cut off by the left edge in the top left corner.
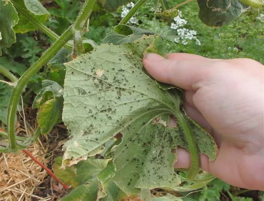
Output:
<instances>
[{"instance_id":1,"label":"green leaf cut off by the left edge in the top left corner","mask_svg":"<svg viewBox=\"0 0 264 201\"><path fill-rule=\"evenodd\" d=\"M15 7L9 0L1 0L0 8L0 46L10 47L16 42L16 35L13 26L18 22L18 15Z\"/></svg>"}]
</instances>

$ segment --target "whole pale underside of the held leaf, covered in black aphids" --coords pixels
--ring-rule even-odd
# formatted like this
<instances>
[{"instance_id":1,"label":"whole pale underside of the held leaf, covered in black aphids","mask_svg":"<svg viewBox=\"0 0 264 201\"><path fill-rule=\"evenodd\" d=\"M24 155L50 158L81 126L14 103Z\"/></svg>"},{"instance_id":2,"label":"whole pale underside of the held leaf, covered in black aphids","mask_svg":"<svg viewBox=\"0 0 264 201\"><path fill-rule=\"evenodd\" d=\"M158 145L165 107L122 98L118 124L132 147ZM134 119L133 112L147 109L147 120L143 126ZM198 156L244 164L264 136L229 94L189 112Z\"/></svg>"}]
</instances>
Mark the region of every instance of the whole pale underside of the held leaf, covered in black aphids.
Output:
<instances>
[{"instance_id":1,"label":"whole pale underside of the held leaf, covered in black aphids","mask_svg":"<svg viewBox=\"0 0 264 201\"><path fill-rule=\"evenodd\" d=\"M65 63L62 116L71 138L64 144L63 161L100 153L121 132L122 142L112 148L114 159L100 173L105 176L99 174L98 178L103 186L115 182L127 194L180 184L173 169L177 157L171 149L188 149L181 127L177 121L171 123L182 103L180 90L163 90L142 65L146 49L162 54L160 39L143 35L133 43L102 44ZM214 140L187 121L199 152L214 160Z\"/></svg>"}]
</instances>

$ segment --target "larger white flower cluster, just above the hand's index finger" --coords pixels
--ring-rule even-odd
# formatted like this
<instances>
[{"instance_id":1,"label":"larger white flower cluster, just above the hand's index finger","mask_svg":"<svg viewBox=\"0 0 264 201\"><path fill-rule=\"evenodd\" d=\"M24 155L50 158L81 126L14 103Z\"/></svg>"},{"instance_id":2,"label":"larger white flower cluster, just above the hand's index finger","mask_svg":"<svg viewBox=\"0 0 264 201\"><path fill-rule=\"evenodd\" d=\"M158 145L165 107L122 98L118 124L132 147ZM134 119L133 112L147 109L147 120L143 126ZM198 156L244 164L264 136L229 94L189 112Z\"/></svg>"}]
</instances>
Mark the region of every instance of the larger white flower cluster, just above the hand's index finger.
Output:
<instances>
[{"instance_id":1,"label":"larger white flower cluster, just above the hand's index finger","mask_svg":"<svg viewBox=\"0 0 264 201\"><path fill-rule=\"evenodd\" d=\"M201 45L201 42L196 37L197 32L195 30L180 28L187 24L187 21L181 18L181 11L179 11L179 15L175 17L173 21L174 22L171 23L171 29L176 29L178 35L178 37L174 39L175 43L179 43L181 40L181 43L186 45L188 40L196 40L196 44Z\"/></svg>"}]
</instances>

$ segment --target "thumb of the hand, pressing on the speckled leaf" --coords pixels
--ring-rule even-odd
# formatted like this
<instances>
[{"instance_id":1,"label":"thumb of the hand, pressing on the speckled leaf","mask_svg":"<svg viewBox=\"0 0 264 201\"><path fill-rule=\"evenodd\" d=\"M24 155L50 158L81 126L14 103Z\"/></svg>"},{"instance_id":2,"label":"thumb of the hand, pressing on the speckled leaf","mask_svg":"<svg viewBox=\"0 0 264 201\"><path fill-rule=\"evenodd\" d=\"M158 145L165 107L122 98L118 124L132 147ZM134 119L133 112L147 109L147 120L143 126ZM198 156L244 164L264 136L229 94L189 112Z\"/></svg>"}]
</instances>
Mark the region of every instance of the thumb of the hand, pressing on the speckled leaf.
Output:
<instances>
[{"instance_id":1,"label":"thumb of the hand, pressing on the speckled leaf","mask_svg":"<svg viewBox=\"0 0 264 201\"><path fill-rule=\"evenodd\" d=\"M199 81L208 75L213 60L194 54L176 53L166 59L158 54L147 53L143 65L154 79L186 90L197 90ZM181 56L179 56L181 55ZM172 58L172 59L171 59Z\"/></svg>"}]
</instances>

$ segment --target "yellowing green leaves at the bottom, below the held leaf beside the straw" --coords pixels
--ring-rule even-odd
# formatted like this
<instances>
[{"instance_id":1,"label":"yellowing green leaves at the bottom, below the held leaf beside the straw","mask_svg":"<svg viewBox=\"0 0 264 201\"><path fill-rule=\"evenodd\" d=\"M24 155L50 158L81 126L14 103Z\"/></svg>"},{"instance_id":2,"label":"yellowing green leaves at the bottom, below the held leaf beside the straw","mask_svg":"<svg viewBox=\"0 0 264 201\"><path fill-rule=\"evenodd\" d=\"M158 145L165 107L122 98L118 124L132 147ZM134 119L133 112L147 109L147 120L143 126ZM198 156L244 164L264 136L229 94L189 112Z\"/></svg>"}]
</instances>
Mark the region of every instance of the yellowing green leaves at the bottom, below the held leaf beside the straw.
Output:
<instances>
[{"instance_id":1,"label":"yellowing green leaves at the bottom, below the held leaf beside the straw","mask_svg":"<svg viewBox=\"0 0 264 201\"><path fill-rule=\"evenodd\" d=\"M60 181L71 185L73 190L62 200L96 200L116 201L122 195L120 188L113 182L107 183L107 188L102 188L97 179L98 173L104 170L109 160L87 158L79 161L64 170L60 168L62 157L57 157L53 165L53 171Z\"/></svg>"}]
</instances>

